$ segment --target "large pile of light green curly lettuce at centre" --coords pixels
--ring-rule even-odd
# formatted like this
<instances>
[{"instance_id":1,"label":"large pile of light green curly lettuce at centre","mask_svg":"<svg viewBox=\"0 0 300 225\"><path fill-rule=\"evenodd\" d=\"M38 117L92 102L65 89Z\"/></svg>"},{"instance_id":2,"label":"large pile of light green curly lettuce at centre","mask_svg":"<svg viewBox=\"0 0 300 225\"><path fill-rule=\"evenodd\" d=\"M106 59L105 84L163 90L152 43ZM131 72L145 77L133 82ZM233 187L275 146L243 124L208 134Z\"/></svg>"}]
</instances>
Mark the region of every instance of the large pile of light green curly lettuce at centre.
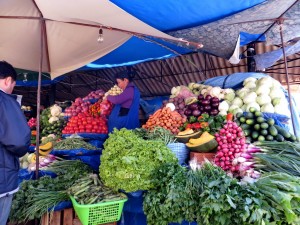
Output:
<instances>
[{"instance_id":1,"label":"large pile of light green curly lettuce at centre","mask_svg":"<svg viewBox=\"0 0 300 225\"><path fill-rule=\"evenodd\" d=\"M104 142L100 177L114 190L149 190L155 187L153 171L167 162L178 160L164 142L144 140L125 128L114 129Z\"/></svg>"}]
</instances>

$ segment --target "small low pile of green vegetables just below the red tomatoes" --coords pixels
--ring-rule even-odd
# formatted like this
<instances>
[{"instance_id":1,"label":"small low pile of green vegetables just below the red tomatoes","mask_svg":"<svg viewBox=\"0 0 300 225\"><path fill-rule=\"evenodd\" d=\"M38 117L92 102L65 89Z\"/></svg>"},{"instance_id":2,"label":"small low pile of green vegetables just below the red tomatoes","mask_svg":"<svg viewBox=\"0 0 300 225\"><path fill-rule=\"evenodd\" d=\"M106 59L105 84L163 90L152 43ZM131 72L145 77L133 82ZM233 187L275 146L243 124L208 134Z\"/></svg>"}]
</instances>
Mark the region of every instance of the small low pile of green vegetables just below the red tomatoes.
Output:
<instances>
[{"instance_id":1,"label":"small low pile of green vegetables just below the red tomatoes","mask_svg":"<svg viewBox=\"0 0 300 225\"><path fill-rule=\"evenodd\" d=\"M80 149L97 150L97 148L81 138L66 138L54 144L55 150Z\"/></svg>"}]
</instances>

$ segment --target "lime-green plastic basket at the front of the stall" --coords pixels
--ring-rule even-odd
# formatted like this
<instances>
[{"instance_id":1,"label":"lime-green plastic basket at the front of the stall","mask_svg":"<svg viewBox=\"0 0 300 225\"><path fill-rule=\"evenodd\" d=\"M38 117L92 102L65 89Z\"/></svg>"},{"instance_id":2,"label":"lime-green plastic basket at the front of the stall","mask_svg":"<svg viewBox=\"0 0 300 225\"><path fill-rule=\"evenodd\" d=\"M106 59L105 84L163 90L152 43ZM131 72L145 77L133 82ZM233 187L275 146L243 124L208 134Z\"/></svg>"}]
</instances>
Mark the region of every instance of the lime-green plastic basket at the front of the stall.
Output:
<instances>
[{"instance_id":1,"label":"lime-green plastic basket at the front of the stall","mask_svg":"<svg viewBox=\"0 0 300 225\"><path fill-rule=\"evenodd\" d=\"M82 225L98 225L120 220L124 203L127 199L103 202L91 205L80 205L70 196L74 210Z\"/></svg>"}]
</instances>

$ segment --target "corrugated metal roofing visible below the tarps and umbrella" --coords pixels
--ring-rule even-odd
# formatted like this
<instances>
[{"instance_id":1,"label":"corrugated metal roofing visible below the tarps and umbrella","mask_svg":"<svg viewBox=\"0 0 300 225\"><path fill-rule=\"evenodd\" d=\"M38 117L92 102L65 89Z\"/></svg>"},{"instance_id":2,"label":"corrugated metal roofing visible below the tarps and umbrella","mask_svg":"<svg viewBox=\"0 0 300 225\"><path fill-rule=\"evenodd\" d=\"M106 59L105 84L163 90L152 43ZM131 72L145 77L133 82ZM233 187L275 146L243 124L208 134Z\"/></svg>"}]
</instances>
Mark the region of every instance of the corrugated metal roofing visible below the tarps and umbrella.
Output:
<instances>
[{"instance_id":1,"label":"corrugated metal roofing visible below the tarps and umbrella","mask_svg":"<svg viewBox=\"0 0 300 225\"><path fill-rule=\"evenodd\" d=\"M255 45L256 54L261 54L280 46ZM242 48L241 52L245 52ZM289 82L300 84L300 54L287 57ZM264 73L286 84L284 61L280 60ZM113 75L125 70L126 67L101 69L95 71L74 71L65 76L56 84L55 99L57 101L74 100L76 97L84 97L89 92L97 89L107 91L113 85ZM200 82L208 78L221 75L229 75L237 72L247 72L247 58L238 65L232 65L227 60L204 53L182 55L167 60L145 62L132 66L137 71L135 84L141 91L142 97L168 96L173 86L186 85L189 82ZM53 88L53 87L52 87ZM16 87L15 93L23 94L29 104L36 102L36 88ZM51 88L42 88L42 102L51 96Z\"/></svg>"}]
</instances>

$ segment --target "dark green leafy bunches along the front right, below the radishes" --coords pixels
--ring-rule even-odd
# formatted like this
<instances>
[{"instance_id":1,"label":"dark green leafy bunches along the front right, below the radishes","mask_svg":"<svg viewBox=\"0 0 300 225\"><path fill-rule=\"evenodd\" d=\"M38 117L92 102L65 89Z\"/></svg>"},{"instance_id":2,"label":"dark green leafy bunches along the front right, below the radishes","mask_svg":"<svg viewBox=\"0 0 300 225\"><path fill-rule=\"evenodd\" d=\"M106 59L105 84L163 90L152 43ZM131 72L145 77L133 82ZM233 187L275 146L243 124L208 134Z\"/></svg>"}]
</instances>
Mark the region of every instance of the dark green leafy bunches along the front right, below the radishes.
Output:
<instances>
[{"instance_id":1,"label":"dark green leafy bunches along the front right, below the radishes","mask_svg":"<svg viewBox=\"0 0 300 225\"><path fill-rule=\"evenodd\" d=\"M273 173L271 179L266 175L256 184L242 185L210 163L196 171L165 164L155 174L160 178L157 189L144 199L149 225L183 220L201 225L299 224L299 178Z\"/></svg>"}]
</instances>

